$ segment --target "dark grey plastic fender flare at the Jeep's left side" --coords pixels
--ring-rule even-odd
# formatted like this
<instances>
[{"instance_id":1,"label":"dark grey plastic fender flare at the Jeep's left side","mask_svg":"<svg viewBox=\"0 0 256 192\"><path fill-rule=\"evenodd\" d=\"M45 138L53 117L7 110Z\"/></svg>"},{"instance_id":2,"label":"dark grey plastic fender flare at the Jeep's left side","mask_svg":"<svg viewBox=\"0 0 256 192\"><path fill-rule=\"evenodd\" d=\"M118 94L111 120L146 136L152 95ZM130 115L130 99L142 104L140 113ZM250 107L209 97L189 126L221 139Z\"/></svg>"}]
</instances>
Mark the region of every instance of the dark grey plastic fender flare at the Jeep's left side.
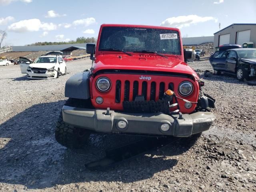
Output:
<instances>
[{"instance_id":1,"label":"dark grey plastic fender flare at the Jeep's left side","mask_svg":"<svg viewBox=\"0 0 256 192\"><path fill-rule=\"evenodd\" d=\"M84 71L71 76L65 85L65 97L75 99L89 99L90 74L90 71Z\"/></svg>"}]
</instances>

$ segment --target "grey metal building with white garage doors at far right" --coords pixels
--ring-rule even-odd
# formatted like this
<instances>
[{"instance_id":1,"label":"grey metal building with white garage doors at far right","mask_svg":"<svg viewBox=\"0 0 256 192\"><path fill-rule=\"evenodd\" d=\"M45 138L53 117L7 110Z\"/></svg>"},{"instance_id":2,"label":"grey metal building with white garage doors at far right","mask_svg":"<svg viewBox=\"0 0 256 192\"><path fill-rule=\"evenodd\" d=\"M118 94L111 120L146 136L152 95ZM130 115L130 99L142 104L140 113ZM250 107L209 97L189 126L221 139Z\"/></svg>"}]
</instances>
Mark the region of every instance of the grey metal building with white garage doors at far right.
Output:
<instances>
[{"instance_id":1,"label":"grey metal building with white garage doors at far right","mask_svg":"<svg viewBox=\"0 0 256 192\"><path fill-rule=\"evenodd\" d=\"M234 23L214 33L214 47L223 44L239 44L253 42L256 47L256 24Z\"/></svg>"}]
</instances>

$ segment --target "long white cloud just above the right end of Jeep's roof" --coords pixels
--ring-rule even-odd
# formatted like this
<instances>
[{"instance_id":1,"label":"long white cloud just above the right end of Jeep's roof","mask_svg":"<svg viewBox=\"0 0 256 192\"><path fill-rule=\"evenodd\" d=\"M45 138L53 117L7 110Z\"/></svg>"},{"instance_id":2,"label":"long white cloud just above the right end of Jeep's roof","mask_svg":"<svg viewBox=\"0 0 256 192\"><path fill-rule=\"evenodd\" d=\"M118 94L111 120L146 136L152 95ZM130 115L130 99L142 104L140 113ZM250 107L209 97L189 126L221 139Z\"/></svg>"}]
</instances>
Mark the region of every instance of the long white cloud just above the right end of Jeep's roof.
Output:
<instances>
[{"instance_id":1,"label":"long white cloud just above the right end of Jeep's roof","mask_svg":"<svg viewBox=\"0 0 256 192\"><path fill-rule=\"evenodd\" d=\"M202 23L206 21L214 20L217 22L218 20L214 17L200 17L197 15L188 15L188 16L178 16L171 17L164 20L160 25L166 27L188 27L190 24Z\"/></svg>"}]
</instances>

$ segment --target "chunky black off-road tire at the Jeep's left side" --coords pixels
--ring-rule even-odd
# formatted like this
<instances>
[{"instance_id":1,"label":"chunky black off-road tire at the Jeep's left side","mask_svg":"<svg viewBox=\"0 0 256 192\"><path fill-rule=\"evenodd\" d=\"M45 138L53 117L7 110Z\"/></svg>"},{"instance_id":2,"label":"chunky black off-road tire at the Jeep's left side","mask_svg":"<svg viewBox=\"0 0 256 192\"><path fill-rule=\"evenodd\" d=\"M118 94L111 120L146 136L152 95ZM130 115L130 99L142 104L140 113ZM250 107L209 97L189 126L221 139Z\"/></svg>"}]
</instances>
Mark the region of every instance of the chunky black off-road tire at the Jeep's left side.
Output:
<instances>
[{"instance_id":1,"label":"chunky black off-road tire at the Jeep's left side","mask_svg":"<svg viewBox=\"0 0 256 192\"><path fill-rule=\"evenodd\" d=\"M80 102L81 100L70 98L65 105L77 107L81 106ZM82 105L84 106L84 103ZM83 148L86 145L90 134L90 130L78 128L65 123L63 121L62 112L60 112L60 116L58 118L58 122L56 123L55 129L55 138L59 144L71 149Z\"/></svg>"}]
</instances>

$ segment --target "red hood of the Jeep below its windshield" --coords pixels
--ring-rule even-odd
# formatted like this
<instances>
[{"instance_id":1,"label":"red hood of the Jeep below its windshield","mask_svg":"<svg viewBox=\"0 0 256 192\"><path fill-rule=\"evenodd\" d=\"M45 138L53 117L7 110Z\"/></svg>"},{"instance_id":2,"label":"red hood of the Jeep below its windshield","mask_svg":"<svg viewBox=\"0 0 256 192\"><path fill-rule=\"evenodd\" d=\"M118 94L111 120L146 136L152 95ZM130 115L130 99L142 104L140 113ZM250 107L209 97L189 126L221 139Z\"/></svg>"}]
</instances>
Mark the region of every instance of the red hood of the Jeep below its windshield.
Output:
<instances>
[{"instance_id":1,"label":"red hood of the Jeep below its windshield","mask_svg":"<svg viewBox=\"0 0 256 192\"><path fill-rule=\"evenodd\" d=\"M158 72L174 72L194 76L198 79L196 72L185 62L178 60L175 56L162 58L153 55L120 56L120 54L100 55L96 58L93 72L105 69L116 70L147 70Z\"/></svg>"}]
</instances>

